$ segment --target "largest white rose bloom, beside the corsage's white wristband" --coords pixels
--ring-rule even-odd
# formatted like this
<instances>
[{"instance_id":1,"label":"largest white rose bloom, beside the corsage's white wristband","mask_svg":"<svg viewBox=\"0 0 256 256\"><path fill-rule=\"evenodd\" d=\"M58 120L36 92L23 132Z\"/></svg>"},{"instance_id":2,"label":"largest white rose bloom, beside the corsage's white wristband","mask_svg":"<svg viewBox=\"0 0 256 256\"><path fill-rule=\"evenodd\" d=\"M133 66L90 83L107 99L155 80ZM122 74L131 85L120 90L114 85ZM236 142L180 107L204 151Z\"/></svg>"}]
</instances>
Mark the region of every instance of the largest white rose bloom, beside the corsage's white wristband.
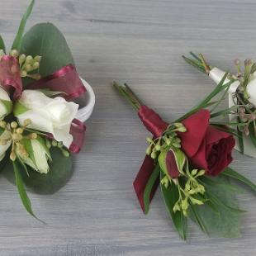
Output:
<instances>
[{"instance_id":1,"label":"largest white rose bloom, beside the corsage's white wristband","mask_svg":"<svg viewBox=\"0 0 256 256\"><path fill-rule=\"evenodd\" d=\"M36 90L23 91L14 107L14 115L21 125L30 119L28 128L51 133L67 148L73 141L69 130L77 111L78 104L66 102L63 97L50 98Z\"/></svg>"}]
</instances>

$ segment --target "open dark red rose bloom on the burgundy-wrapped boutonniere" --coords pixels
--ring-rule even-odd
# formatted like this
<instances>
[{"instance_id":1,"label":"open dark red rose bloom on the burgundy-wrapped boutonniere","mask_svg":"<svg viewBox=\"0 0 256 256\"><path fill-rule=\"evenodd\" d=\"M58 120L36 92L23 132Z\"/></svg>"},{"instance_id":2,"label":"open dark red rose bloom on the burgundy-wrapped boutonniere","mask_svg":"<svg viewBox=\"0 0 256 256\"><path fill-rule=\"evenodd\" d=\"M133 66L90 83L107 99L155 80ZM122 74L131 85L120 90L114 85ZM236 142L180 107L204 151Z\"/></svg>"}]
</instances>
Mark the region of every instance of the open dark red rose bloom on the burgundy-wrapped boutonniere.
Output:
<instances>
[{"instance_id":1,"label":"open dark red rose bloom on the burgundy-wrapped boutonniere","mask_svg":"<svg viewBox=\"0 0 256 256\"><path fill-rule=\"evenodd\" d=\"M183 152L195 168L206 170L216 176L231 162L235 146L232 135L209 125L210 112L202 109L183 120L187 131L180 133Z\"/></svg>"}]
</instances>

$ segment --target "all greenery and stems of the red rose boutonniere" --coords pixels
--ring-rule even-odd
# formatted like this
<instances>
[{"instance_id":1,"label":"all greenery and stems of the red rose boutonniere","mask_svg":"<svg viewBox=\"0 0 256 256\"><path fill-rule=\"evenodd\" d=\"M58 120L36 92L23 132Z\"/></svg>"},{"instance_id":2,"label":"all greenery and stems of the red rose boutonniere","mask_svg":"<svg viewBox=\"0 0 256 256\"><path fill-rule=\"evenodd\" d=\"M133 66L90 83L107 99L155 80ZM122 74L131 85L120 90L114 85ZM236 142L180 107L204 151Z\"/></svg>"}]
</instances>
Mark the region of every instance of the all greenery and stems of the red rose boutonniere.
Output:
<instances>
[{"instance_id":1,"label":"all greenery and stems of the red rose boutonniere","mask_svg":"<svg viewBox=\"0 0 256 256\"><path fill-rule=\"evenodd\" d=\"M199 68L205 69L205 66L206 64L201 64L201 68ZM223 101L223 95L230 88L230 84L233 83L232 79L229 83L225 83L227 75L228 73L225 73L216 88L195 107L192 107L192 110L173 121L162 136L154 140L147 139L149 147L146 149L146 154L155 159L155 168L144 191L145 214L149 212L150 192L160 177L160 187L165 205L173 220L173 225L182 239L187 239L188 218L209 236L239 237L239 223L244 211L239 209L238 201L235 198L236 194L240 192L236 183L243 183L256 192L254 183L231 168L226 168L216 178L207 177L204 175L204 170L189 168L187 157L180 149L180 140L176 135L178 129L180 132L186 132L186 127L180 122L202 108L211 107L212 118L230 111L215 111L216 106ZM135 111L144 105L127 84L121 86L115 82L113 86L135 108ZM226 127L230 123L222 124L211 121L211 125L237 135L234 129ZM164 155L169 149L175 155L180 173L178 178L171 178L166 170Z\"/></svg>"}]
</instances>

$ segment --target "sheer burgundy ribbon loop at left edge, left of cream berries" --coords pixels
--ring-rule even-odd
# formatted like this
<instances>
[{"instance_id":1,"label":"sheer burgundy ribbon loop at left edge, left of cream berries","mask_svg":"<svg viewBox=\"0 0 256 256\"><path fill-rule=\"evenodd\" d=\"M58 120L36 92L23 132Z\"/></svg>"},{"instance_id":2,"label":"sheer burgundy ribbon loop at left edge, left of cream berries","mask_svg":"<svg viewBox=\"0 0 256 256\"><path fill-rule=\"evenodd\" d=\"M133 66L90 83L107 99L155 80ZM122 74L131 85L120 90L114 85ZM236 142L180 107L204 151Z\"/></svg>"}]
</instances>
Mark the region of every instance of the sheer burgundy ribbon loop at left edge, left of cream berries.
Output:
<instances>
[{"instance_id":1,"label":"sheer burgundy ribbon loop at left edge, left of cream berries","mask_svg":"<svg viewBox=\"0 0 256 256\"><path fill-rule=\"evenodd\" d=\"M17 58L3 55L0 59L0 84L14 100L21 97L22 82Z\"/></svg>"}]
</instances>

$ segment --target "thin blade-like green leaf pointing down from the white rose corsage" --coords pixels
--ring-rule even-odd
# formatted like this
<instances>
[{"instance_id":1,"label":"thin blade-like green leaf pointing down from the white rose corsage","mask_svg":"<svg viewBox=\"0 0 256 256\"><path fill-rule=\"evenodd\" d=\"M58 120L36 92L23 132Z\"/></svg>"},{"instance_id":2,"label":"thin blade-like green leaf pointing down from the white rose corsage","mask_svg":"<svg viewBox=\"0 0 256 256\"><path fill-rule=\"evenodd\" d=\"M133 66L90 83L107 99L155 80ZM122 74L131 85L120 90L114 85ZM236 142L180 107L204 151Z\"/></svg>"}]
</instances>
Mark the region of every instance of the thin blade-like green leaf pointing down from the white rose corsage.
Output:
<instances>
[{"instance_id":1,"label":"thin blade-like green leaf pointing down from the white rose corsage","mask_svg":"<svg viewBox=\"0 0 256 256\"><path fill-rule=\"evenodd\" d=\"M14 173L15 173L15 180L16 180L17 190L18 190L19 195L21 197L22 204L26 208L26 211L28 213L30 213L31 216L36 218L34 212L32 211L31 201L27 197L26 190L25 190L22 178L21 178L20 165L17 163L17 161L13 162L12 165L13 165L13 169L14 169Z\"/></svg>"}]
</instances>

